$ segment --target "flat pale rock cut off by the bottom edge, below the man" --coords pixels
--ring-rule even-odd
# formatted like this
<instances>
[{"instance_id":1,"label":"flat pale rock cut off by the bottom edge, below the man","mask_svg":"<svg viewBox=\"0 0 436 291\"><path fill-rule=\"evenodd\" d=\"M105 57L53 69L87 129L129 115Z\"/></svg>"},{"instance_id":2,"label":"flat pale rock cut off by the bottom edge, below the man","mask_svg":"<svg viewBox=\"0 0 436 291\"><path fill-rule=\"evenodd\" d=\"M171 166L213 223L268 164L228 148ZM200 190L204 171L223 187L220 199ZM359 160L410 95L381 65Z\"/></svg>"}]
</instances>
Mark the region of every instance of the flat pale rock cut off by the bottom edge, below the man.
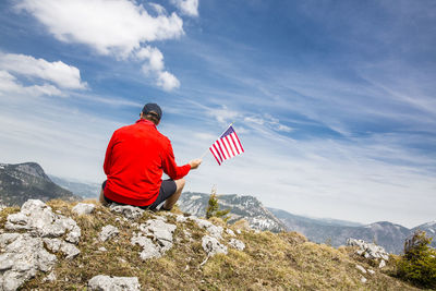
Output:
<instances>
[{"instance_id":1,"label":"flat pale rock cut off by the bottom edge, below the man","mask_svg":"<svg viewBox=\"0 0 436 291\"><path fill-rule=\"evenodd\" d=\"M140 291L137 277L111 277L98 275L88 281L90 290L96 291Z\"/></svg>"}]
</instances>

